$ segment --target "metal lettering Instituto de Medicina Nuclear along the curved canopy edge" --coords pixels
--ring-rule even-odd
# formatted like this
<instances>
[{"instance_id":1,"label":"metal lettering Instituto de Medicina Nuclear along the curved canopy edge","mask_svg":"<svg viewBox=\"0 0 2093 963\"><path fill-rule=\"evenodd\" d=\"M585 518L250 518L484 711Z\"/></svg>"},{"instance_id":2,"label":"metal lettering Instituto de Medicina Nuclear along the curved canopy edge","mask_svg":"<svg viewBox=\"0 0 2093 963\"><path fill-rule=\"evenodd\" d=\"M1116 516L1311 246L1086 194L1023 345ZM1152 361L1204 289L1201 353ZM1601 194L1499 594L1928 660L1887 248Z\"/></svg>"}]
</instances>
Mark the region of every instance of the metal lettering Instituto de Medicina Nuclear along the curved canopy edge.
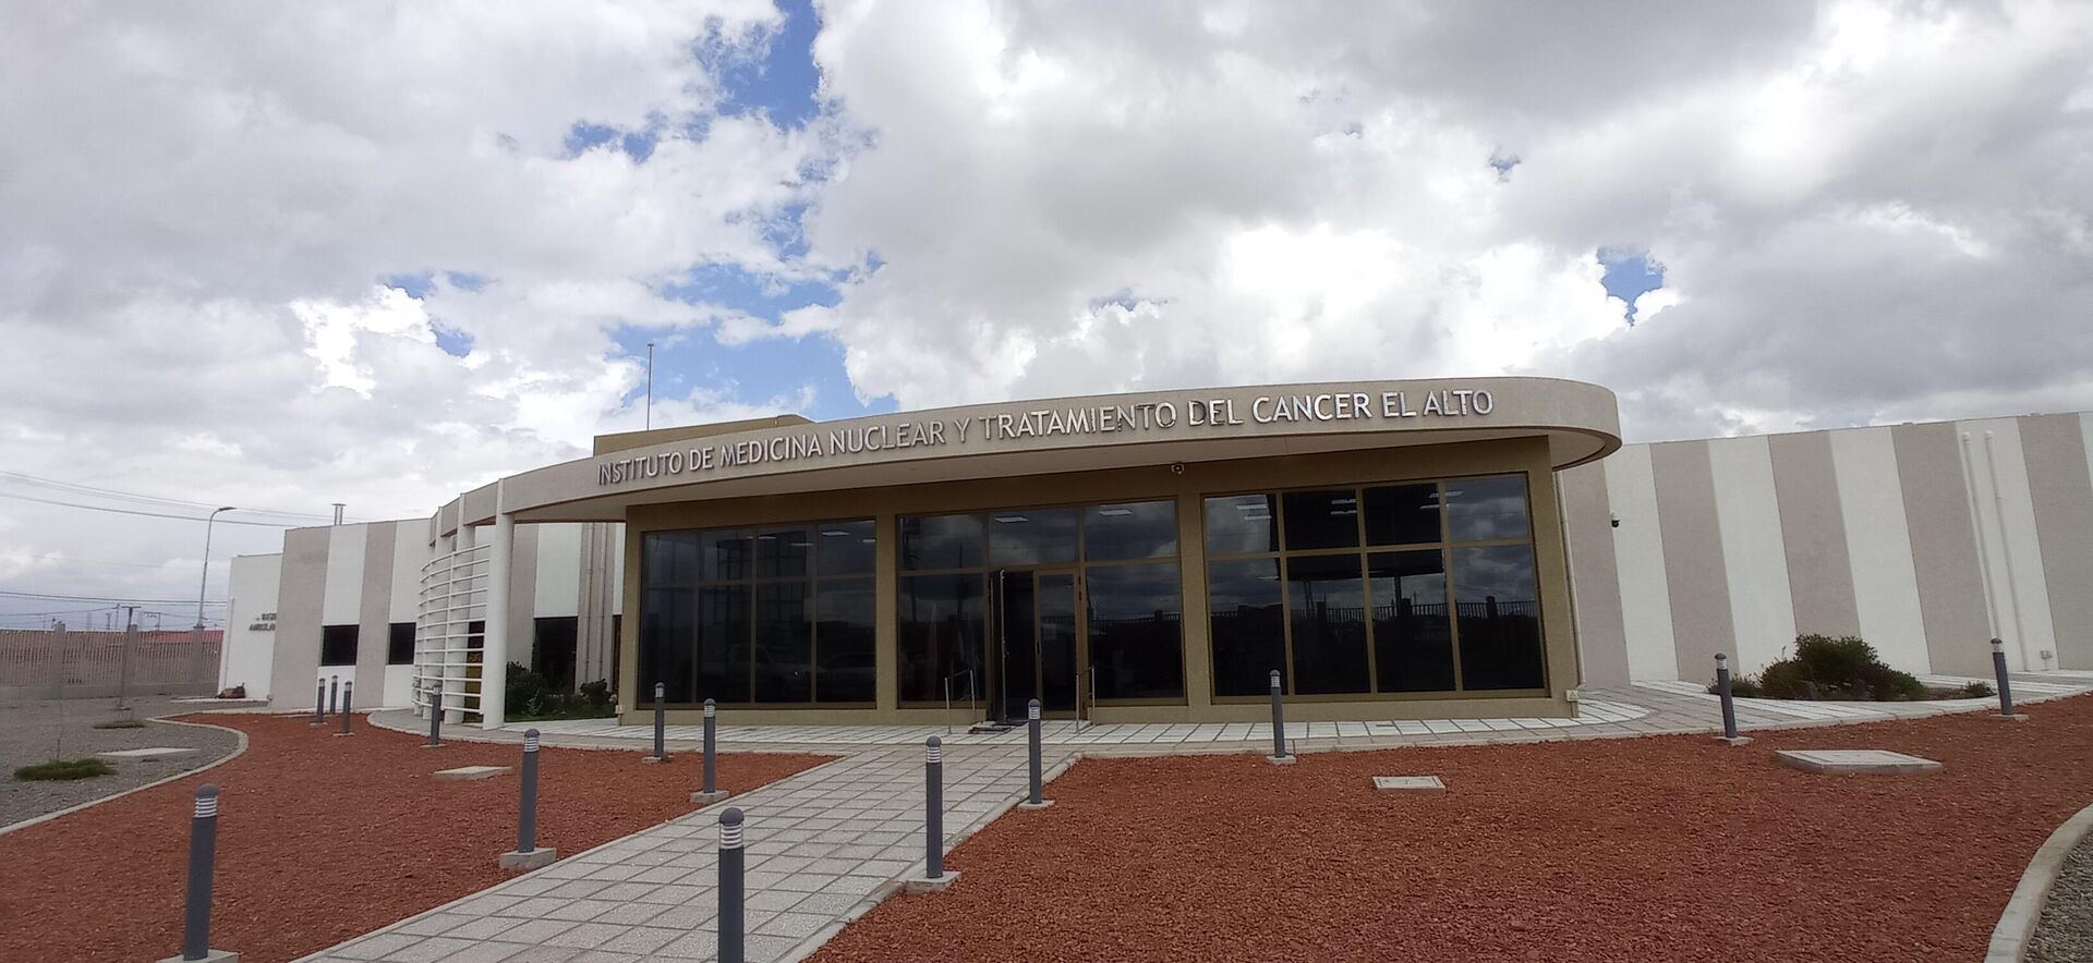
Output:
<instances>
[{"instance_id":1,"label":"metal lettering Instituto de Medicina Nuclear along the curved canopy edge","mask_svg":"<svg viewBox=\"0 0 2093 963\"><path fill-rule=\"evenodd\" d=\"M927 446L986 448L1028 438L1160 433L1191 435L1233 425L1298 425L1331 421L1404 421L1486 417L1496 408L1488 389L1260 394L1254 398L1191 398L1180 402L1090 404L1072 408L996 410L940 419L802 425L768 438L718 442L689 450L634 454L597 463L597 486L663 475L695 475L724 467L831 458Z\"/></svg>"}]
</instances>

